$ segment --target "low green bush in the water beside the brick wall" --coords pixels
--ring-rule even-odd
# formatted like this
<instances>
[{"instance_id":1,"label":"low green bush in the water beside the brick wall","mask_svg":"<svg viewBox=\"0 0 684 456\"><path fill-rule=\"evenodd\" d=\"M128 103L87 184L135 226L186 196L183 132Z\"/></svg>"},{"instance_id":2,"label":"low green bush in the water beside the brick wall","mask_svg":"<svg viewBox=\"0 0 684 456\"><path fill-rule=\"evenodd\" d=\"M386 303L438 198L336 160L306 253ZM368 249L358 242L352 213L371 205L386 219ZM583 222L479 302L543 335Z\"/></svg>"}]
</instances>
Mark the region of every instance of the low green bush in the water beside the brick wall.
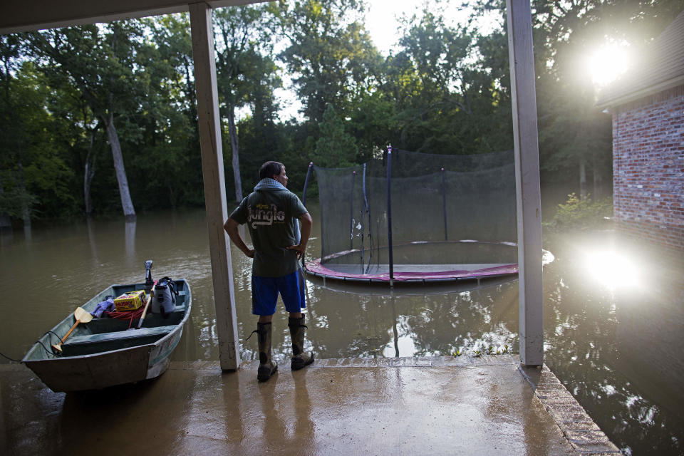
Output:
<instances>
[{"instance_id":1,"label":"low green bush in the water beside the brick wall","mask_svg":"<svg viewBox=\"0 0 684 456\"><path fill-rule=\"evenodd\" d=\"M546 223L545 226L556 231L586 229L596 227L606 217L611 217L612 215L612 197L592 201L589 197L581 199L574 193L571 193L568 195L567 202L558 205L554 218L551 219L551 222Z\"/></svg>"}]
</instances>

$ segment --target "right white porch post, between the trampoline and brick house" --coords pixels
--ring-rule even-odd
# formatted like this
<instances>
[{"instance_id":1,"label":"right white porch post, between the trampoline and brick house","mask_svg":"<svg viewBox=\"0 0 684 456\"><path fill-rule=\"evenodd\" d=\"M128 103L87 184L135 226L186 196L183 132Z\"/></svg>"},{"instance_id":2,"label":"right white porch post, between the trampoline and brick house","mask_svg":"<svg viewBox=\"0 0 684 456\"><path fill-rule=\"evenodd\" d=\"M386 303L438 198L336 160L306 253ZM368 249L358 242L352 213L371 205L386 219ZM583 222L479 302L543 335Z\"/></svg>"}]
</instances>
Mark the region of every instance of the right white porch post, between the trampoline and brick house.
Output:
<instances>
[{"instance_id":1,"label":"right white porch post, between the trampoline and brick house","mask_svg":"<svg viewBox=\"0 0 684 456\"><path fill-rule=\"evenodd\" d=\"M544 363L541 191L532 9L529 0L506 0L506 9L518 217L520 362L525 366L541 366Z\"/></svg>"}]
</instances>

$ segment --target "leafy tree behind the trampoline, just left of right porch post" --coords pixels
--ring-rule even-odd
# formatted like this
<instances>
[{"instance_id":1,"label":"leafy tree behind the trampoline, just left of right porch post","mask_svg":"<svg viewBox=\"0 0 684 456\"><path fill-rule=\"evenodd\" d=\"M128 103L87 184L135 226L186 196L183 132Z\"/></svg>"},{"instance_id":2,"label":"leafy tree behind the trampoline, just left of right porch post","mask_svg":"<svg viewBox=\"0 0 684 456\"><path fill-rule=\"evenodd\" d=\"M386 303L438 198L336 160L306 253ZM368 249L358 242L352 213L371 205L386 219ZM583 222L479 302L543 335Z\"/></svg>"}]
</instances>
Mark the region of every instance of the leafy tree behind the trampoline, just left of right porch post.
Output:
<instances>
[{"instance_id":1,"label":"leafy tree behind the trampoline, just left of right porch post","mask_svg":"<svg viewBox=\"0 0 684 456\"><path fill-rule=\"evenodd\" d=\"M500 73L487 66L493 56L485 60L479 48L489 51L489 41L427 8L404 24L402 48L388 58L384 84L396 100L398 143L457 154L510 147L511 120L502 118L507 91Z\"/></svg>"}]
</instances>

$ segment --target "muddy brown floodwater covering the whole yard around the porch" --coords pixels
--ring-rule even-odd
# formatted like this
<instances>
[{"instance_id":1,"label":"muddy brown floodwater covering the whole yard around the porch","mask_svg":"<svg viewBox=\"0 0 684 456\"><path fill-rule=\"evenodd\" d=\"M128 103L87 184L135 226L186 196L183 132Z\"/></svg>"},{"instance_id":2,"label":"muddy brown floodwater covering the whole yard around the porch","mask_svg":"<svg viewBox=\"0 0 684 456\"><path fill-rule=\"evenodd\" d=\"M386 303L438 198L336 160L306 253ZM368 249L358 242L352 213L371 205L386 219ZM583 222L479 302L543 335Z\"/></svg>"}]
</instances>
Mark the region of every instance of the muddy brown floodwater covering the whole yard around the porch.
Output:
<instances>
[{"instance_id":1,"label":"muddy brown floodwater covering the whole yard around the porch","mask_svg":"<svg viewBox=\"0 0 684 456\"><path fill-rule=\"evenodd\" d=\"M314 203L315 204L315 203ZM309 256L318 257L316 232ZM684 454L684 266L611 231L548 237L544 269L545 363L626 454ZM113 283L185 278L192 316L172 358L218 360L204 211L139 214L34 228L0 237L0 352L21 358L38 337ZM257 358L250 314L251 260L232 247L243 359ZM307 343L318 358L450 356L518 351L517 280L430 288L306 282ZM273 350L289 354L282 308ZM0 362L6 362L4 360ZM255 373L256 375L256 373Z\"/></svg>"}]
</instances>

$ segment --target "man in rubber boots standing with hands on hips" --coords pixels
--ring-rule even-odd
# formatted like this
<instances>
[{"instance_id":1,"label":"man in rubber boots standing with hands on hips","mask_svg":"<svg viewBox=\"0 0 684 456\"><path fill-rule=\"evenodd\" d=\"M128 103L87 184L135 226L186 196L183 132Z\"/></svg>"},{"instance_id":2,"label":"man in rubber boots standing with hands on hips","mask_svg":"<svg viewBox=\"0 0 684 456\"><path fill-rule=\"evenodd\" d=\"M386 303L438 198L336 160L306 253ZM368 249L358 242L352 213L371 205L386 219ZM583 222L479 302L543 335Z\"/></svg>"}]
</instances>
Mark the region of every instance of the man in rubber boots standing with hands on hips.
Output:
<instances>
[{"instance_id":1,"label":"man in rubber boots standing with hands on hips","mask_svg":"<svg viewBox=\"0 0 684 456\"><path fill-rule=\"evenodd\" d=\"M299 198L286 189L285 166L266 162L259 169L259 183L245 197L224 224L230 240L253 258L252 314L259 316L259 370L257 379L265 381L278 370L271 359L271 320L276 313L278 294L290 313L288 326L292 338L293 371L314 362L314 353L304 351L304 277L299 259L311 235L311 215ZM299 223L301 221L301 233ZM247 223L254 249L244 244L238 225ZM251 336L251 335L250 335Z\"/></svg>"}]
</instances>

